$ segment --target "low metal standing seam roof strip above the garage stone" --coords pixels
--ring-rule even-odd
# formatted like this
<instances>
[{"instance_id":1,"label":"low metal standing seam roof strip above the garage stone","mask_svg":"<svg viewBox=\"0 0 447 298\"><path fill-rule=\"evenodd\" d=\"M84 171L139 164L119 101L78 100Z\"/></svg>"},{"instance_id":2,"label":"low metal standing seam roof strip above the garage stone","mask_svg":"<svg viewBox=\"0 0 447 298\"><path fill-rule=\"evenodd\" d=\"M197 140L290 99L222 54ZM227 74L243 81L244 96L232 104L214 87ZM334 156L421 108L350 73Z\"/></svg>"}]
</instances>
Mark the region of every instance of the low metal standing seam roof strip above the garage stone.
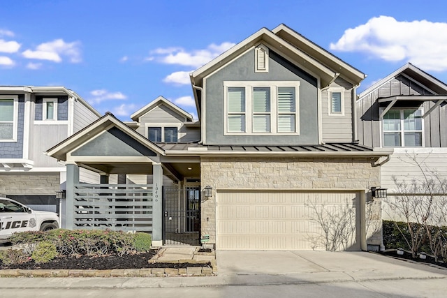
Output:
<instances>
[{"instance_id":1,"label":"low metal standing seam roof strip above the garage stone","mask_svg":"<svg viewBox=\"0 0 447 298\"><path fill-rule=\"evenodd\" d=\"M200 149L210 151L247 151L247 152L358 152L373 151L372 148L357 143L325 143L313 145L284 145L284 146L258 146L258 145L203 145L198 143L156 143L165 151L195 151ZM196 150L194 150L196 149Z\"/></svg>"}]
</instances>

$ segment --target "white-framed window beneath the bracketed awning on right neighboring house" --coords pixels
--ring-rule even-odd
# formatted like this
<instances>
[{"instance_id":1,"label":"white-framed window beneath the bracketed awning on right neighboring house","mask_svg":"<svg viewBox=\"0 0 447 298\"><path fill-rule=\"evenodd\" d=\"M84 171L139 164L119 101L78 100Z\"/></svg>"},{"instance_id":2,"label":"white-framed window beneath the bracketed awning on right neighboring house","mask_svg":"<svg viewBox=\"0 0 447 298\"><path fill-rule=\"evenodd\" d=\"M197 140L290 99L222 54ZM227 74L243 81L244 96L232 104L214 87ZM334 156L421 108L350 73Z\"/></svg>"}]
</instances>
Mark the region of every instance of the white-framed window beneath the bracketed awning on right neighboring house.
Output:
<instances>
[{"instance_id":1,"label":"white-framed window beneath the bracketed awning on right neighboring house","mask_svg":"<svg viewBox=\"0 0 447 298\"><path fill-rule=\"evenodd\" d=\"M421 110L389 110L383 116L383 147L423 146Z\"/></svg>"}]
</instances>

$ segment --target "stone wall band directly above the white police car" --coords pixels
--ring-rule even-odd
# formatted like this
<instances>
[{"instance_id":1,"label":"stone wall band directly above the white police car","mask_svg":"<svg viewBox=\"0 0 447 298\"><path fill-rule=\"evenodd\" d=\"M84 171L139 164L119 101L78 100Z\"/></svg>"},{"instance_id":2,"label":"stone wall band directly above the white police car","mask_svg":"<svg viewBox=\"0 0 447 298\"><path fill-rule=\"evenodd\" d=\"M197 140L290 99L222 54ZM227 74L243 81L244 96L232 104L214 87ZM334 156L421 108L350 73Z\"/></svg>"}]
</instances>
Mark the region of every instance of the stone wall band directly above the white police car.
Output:
<instances>
[{"instance_id":1,"label":"stone wall band directly above the white police car","mask_svg":"<svg viewBox=\"0 0 447 298\"><path fill-rule=\"evenodd\" d=\"M0 193L6 195L55 195L59 172L48 174L0 174Z\"/></svg>"}]
</instances>

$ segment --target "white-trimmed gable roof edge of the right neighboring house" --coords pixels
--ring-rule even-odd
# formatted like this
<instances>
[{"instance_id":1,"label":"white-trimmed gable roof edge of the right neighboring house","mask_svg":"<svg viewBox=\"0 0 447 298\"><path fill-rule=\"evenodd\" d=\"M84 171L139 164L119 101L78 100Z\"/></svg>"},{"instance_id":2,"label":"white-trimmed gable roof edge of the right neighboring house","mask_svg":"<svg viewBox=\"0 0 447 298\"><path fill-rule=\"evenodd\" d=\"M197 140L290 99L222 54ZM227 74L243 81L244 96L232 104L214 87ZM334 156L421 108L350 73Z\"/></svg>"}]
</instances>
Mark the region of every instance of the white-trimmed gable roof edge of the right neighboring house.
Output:
<instances>
[{"instance_id":1,"label":"white-trimmed gable roof edge of the right neighboring house","mask_svg":"<svg viewBox=\"0 0 447 298\"><path fill-rule=\"evenodd\" d=\"M387 77L384 77L382 80L379 80L379 82L372 84L372 86L367 88L365 91L362 91L362 93L360 93L358 96L359 97L358 100L361 100L362 98L370 94L372 91L381 87L386 82L393 80L393 78L397 77L401 73L404 73L405 75L411 77L416 82L423 84L423 86L431 89L437 94L447 94L447 85L444 84L444 82L441 82L436 77L433 77L428 73L425 73L424 70L421 70L420 68L414 66L413 64L408 63L402 66L401 68L398 68Z\"/></svg>"}]
</instances>

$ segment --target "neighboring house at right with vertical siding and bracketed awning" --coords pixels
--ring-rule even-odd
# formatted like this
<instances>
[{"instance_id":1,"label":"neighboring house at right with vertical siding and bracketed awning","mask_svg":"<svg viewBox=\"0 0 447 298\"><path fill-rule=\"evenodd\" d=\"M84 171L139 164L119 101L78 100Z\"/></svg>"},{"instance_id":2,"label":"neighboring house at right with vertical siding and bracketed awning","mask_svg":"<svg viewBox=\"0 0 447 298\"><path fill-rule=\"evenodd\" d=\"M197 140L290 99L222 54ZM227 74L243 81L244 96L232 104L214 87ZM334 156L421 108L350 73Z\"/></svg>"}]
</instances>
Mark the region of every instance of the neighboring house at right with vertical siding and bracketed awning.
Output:
<instances>
[{"instance_id":1,"label":"neighboring house at right with vertical siding and bracketed awning","mask_svg":"<svg viewBox=\"0 0 447 298\"><path fill-rule=\"evenodd\" d=\"M446 103L447 85L413 64L360 94L356 104L360 144L394 149L390 161L381 166L381 186L388 188L390 199L402 194L393 177L407 184L423 181L423 172L447 177ZM383 218L391 219L393 211L386 204L383 208Z\"/></svg>"}]
</instances>

